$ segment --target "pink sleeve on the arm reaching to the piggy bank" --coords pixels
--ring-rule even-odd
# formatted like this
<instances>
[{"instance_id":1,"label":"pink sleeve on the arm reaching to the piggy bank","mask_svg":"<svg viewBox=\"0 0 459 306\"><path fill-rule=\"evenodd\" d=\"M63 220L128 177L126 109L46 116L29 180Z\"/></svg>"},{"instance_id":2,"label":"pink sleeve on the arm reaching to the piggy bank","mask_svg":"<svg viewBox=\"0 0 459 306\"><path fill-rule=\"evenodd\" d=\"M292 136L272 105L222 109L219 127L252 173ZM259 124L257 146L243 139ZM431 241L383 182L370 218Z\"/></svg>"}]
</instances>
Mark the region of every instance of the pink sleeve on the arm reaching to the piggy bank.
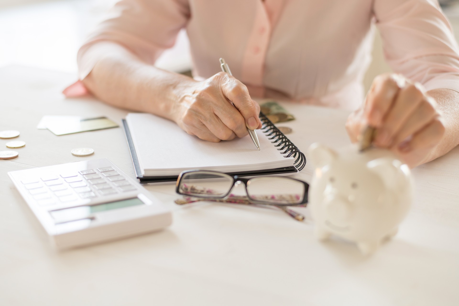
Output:
<instances>
[{"instance_id":1,"label":"pink sleeve on the arm reaching to the piggy bank","mask_svg":"<svg viewBox=\"0 0 459 306\"><path fill-rule=\"evenodd\" d=\"M459 48L437 0L375 0L374 13L395 72L459 92Z\"/></svg>"}]
</instances>

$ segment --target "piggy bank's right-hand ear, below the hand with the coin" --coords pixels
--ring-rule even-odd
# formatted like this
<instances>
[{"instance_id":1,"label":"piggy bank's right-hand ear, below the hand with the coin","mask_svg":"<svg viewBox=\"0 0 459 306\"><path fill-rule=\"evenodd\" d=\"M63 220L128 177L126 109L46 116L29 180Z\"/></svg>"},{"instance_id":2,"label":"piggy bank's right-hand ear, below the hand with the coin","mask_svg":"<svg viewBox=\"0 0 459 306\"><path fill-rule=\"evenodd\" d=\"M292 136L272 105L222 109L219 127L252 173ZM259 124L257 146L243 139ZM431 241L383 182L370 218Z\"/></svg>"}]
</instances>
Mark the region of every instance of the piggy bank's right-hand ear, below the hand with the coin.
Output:
<instances>
[{"instance_id":1,"label":"piggy bank's right-hand ear, below the hand with the coin","mask_svg":"<svg viewBox=\"0 0 459 306\"><path fill-rule=\"evenodd\" d=\"M388 188L396 188L403 182L405 176L403 163L393 158L378 158L367 163L370 171L376 173Z\"/></svg>"}]
</instances>

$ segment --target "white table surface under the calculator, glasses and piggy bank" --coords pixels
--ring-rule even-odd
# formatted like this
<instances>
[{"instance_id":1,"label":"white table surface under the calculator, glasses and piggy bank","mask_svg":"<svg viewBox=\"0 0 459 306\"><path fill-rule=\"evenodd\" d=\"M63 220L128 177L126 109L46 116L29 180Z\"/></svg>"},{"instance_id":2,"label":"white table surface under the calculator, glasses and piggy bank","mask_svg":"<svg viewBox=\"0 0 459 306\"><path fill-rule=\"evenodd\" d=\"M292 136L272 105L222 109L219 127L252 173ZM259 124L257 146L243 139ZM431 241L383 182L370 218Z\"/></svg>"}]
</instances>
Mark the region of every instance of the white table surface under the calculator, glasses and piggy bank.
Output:
<instances>
[{"instance_id":1,"label":"white table surface under the calculator, glasses and piggy bank","mask_svg":"<svg viewBox=\"0 0 459 306\"><path fill-rule=\"evenodd\" d=\"M301 223L263 208L178 206L173 185L146 186L174 211L168 229L54 251L6 172L107 157L134 177L121 128L63 136L36 129L43 115L121 123L127 111L65 99L74 78L0 69L0 130L17 129L27 143L18 158L0 160L0 305L459 305L459 148L414 169L413 208L374 256L337 239L316 241L308 208ZM282 125L303 151L316 141L348 144L346 112L284 105L297 120ZM95 154L72 156L76 147ZM309 181L311 173L308 163L297 177Z\"/></svg>"}]
</instances>

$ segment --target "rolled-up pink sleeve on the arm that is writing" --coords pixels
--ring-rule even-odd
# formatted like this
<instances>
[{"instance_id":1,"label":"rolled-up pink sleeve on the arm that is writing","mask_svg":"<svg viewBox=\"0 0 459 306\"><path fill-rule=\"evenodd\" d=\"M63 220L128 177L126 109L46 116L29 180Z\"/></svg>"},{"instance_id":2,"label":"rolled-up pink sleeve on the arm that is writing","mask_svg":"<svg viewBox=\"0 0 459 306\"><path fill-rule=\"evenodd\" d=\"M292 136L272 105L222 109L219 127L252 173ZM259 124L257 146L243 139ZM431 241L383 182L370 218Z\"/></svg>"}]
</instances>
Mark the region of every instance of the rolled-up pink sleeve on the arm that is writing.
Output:
<instances>
[{"instance_id":1,"label":"rolled-up pink sleeve on the arm that is writing","mask_svg":"<svg viewBox=\"0 0 459 306\"><path fill-rule=\"evenodd\" d=\"M171 48L184 28L190 11L186 0L121 0L108 17L89 35L78 51L78 76L85 78L101 52L110 52L99 41L112 41L153 64L162 51ZM94 45L94 46L93 46Z\"/></svg>"}]
</instances>

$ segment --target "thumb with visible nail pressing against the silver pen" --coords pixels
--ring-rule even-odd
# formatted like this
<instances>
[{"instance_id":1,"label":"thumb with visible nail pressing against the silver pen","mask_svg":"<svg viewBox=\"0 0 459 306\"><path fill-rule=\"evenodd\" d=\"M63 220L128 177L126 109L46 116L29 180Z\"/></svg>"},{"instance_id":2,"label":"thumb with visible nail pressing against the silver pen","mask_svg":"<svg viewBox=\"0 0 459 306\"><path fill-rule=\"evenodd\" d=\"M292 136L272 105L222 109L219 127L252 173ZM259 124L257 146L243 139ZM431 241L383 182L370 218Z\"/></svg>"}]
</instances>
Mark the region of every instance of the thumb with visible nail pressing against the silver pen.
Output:
<instances>
[{"instance_id":1,"label":"thumb with visible nail pressing against the silver pen","mask_svg":"<svg viewBox=\"0 0 459 306\"><path fill-rule=\"evenodd\" d=\"M242 117L244 117L247 128L252 130L261 128L262 123L258 117L260 106L257 102L252 100L246 85L238 80L231 83L231 86L222 87L224 95L234 104Z\"/></svg>"}]
</instances>

